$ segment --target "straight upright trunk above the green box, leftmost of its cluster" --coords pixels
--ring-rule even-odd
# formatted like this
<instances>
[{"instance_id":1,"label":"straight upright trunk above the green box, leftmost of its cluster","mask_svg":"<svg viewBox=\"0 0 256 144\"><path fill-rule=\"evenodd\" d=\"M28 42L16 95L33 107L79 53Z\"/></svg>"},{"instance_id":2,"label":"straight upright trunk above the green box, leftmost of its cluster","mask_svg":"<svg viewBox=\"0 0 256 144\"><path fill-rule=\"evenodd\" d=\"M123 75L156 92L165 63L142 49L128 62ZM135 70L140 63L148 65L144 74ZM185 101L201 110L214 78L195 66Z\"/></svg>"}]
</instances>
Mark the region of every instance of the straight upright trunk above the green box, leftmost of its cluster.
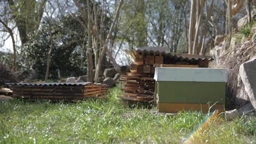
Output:
<instances>
[{"instance_id":1,"label":"straight upright trunk above the green box, leftmost of its cluster","mask_svg":"<svg viewBox=\"0 0 256 144\"><path fill-rule=\"evenodd\" d=\"M193 52L193 41L195 36L195 24L196 24L196 0L191 1L190 9L190 22L189 22L189 54Z\"/></svg>"}]
</instances>

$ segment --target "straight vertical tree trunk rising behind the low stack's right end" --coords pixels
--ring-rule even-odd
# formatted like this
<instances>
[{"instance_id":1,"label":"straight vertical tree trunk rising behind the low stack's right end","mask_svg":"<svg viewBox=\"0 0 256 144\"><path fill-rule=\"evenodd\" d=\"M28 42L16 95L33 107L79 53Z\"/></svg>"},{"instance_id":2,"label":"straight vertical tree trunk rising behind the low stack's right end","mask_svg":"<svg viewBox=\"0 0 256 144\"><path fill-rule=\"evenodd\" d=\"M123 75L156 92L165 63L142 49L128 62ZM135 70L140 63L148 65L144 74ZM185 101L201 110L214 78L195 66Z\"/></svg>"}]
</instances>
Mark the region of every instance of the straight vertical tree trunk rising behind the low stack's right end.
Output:
<instances>
[{"instance_id":1,"label":"straight vertical tree trunk rising behind the low stack's right end","mask_svg":"<svg viewBox=\"0 0 256 144\"><path fill-rule=\"evenodd\" d=\"M92 69L94 68L92 62L92 47L91 47L91 5L90 0L87 0L88 5L88 46L87 46L87 81L93 82Z\"/></svg>"}]
</instances>

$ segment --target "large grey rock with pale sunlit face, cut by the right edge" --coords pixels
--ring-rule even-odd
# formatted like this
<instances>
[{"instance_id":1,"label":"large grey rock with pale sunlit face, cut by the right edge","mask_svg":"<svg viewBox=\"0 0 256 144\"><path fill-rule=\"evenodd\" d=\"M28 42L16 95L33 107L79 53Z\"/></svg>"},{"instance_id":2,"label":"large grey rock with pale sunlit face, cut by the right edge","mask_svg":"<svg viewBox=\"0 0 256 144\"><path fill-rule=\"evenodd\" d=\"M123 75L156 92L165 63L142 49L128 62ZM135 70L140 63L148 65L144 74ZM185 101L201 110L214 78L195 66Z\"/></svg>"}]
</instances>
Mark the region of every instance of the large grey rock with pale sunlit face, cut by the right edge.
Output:
<instances>
[{"instance_id":1,"label":"large grey rock with pale sunlit face, cut by the right edge","mask_svg":"<svg viewBox=\"0 0 256 144\"><path fill-rule=\"evenodd\" d=\"M256 109L256 58L241 64L239 74L249 100Z\"/></svg>"}]
</instances>

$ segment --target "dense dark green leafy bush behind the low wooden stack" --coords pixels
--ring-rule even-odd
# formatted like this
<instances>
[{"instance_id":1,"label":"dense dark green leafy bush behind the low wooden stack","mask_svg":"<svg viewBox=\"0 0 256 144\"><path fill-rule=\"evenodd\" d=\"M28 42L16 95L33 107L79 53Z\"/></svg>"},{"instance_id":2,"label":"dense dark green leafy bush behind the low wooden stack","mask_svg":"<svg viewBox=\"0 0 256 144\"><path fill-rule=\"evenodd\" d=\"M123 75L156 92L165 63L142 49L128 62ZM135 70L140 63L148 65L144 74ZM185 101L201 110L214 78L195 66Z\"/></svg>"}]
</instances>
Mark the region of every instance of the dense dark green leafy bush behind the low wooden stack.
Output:
<instances>
[{"instance_id":1,"label":"dense dark green leafy bush behind the low wooden stack","mask_svg":"<svg viewBox=\"0 0 256 144\"><path fill-rule=\"evenodd\" d=\"M49 27L53 30L49 30ZM57 79L58 70L62 77L84 75L86 50L82 47L83 32L83 27L71 15L62 17L60 21L54 19L50 24L43 21L37 34L25 46L23 65L26 69L32 67L40 78L44 78L51 33L54 48L50 58L50 79Z\"/></svg>"}]
</instances>

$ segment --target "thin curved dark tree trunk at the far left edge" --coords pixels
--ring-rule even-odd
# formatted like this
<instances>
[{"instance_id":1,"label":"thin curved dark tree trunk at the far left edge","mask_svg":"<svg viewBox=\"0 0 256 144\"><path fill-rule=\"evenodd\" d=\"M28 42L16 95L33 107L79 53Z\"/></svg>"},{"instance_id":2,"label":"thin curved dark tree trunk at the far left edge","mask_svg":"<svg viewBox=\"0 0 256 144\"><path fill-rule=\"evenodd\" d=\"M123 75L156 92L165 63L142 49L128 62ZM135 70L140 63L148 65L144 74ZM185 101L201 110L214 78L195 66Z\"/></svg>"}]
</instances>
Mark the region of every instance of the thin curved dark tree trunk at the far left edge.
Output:
<instances>
[{"instance_id":1,"label":"thin curved dark tree trunk at the far left edge","mask_svg":"<svg viewBox=\"0 0 256 144\"><path fill-rule=\"evenodd\" d=\"M0 23L3 24L3 26L7 29L8 33L11 36L11 41L13 42L13 66L11 67L12 71L17 71L17 66L16 66L16 45L15 45L15 39L14 39L14 34L13 34L13 30L11 30L10 27L8 27L7 23L5 23L4 21L2 21L0 19Z\"/></svg>"}]
</instances>

